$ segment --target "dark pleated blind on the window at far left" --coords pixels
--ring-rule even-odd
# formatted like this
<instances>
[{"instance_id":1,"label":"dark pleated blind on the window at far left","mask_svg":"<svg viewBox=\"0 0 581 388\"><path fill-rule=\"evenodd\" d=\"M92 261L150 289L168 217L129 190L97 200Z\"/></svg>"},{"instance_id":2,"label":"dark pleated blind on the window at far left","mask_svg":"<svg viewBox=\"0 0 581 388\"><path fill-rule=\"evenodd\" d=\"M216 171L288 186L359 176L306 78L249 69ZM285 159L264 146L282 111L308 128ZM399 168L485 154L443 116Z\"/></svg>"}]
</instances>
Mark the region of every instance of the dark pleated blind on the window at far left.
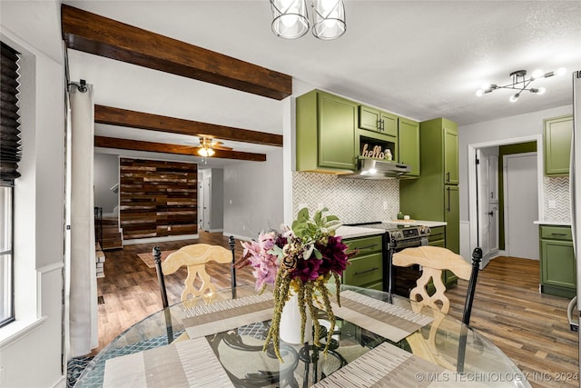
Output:
<instances>
[{"instance_id":1,"label":"dark pleated blind on the window at far left","mask_svg":"<svg viewBox=\"0 0 581 388\"><path fill-rule=\"evenodd\" d=\"M18 115L18 53L2 44L0 69L0 180L19 177L20 116Z\"/></svg>"}]
</instances>

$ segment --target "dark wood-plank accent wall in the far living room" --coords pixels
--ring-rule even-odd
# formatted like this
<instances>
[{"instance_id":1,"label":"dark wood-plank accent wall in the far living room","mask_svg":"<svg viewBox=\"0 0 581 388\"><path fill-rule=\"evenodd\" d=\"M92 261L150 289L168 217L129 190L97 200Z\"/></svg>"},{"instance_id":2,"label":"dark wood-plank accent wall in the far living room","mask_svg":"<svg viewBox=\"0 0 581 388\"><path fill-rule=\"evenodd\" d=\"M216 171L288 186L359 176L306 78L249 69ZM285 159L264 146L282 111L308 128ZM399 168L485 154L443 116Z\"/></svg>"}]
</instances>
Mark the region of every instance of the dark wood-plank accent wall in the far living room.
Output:
<instances>
[{"instance_id":1,"label":"dark wood-plank accent wall in the far living room","mask_svg":"<svg viewBox=\"0 0 581 388\"><path fill-rule=\"evenodd\" d=\"M121 158L123 240L198 233L198 165Z\"/></svg>"}]
</instances>

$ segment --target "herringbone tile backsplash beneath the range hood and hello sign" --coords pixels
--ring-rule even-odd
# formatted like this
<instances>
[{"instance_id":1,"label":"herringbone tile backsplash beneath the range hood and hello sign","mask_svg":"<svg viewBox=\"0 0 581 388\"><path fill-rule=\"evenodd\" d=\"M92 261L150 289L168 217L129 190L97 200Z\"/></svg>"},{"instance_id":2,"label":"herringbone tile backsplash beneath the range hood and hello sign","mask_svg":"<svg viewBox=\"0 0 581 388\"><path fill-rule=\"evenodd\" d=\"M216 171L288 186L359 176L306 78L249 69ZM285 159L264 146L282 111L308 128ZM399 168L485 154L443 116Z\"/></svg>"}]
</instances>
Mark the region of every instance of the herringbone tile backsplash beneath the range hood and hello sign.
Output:
<instances>
[{"instance_id":1,"label":"herringbone tile backsplash beneath the range hood and hello sign","mask_svg":"<svg viewBox=\"0 0 581 388\"><path fill-rule=\"evenodd\" d=\"M343 224L389 221L399 212L399 181L344 179L334 174L292 173L292 211L329 208Z\"/></svg>"}]
</instances>

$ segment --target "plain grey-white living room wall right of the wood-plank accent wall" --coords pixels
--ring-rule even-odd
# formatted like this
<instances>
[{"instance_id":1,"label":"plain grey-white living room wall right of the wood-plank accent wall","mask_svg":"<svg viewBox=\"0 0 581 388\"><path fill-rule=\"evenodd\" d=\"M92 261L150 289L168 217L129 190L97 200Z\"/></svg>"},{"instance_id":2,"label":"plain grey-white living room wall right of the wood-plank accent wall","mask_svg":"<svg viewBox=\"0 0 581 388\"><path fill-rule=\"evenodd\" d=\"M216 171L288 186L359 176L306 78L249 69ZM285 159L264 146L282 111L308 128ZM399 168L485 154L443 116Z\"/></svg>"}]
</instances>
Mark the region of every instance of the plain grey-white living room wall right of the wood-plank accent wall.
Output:
<instances>
[{"instance_id":1,"label":"plain grey-white living room wall right of the wood-plank accent wall","mask_svg":"<svg viewBox=\"0 0 581 388\"><path fill-rule=\"evenodd\" d=\"M224 234L250 240L283 223L282 149L273 147L266 162L224 167Z\"/></svg>"}]
</instances>

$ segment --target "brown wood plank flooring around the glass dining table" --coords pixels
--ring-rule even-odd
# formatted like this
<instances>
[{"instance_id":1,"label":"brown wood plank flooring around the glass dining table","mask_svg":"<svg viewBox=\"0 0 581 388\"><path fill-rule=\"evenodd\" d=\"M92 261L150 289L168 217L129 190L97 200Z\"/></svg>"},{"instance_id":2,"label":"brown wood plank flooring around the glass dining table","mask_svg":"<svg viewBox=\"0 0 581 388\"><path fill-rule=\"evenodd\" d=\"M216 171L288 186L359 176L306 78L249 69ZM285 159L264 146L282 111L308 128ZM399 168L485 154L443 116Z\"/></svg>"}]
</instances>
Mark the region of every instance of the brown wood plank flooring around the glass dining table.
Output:
<instances>
[{"instance_id":1,"label":"brown wood plank flooring around the glass dining table","mask_svg":"<svg viewBox=\"0 0 581 388\"><path fill-rule=\"evenodd\" d=\"M222 234L199 233L198 240L162 244L126 245L123 250L105 253L105 277L98 279L99 346L111 342L123 330L162 308L154 268L148 268L137 254L179 249L186 244L206 243L228 246ZM236 257L241 244L236 243ZM230 286L228 266L208 269L219 287ZM166 277L170 303L178 302L186 271ZM254 284L249 268L239 270L238 284ZM534 387L579 386L578 335L569 330L565 298L538 293L539 269L535 260L497 257L478 275L478 285L470 325L495 343L523 371ZM450 314L461 319L467 282L448 290ZM569 373L567 376L566 373ZM557 377L569 377L558 382ZM572 376L576 376L572 378Z\"/></svg>"}]
</instances>

